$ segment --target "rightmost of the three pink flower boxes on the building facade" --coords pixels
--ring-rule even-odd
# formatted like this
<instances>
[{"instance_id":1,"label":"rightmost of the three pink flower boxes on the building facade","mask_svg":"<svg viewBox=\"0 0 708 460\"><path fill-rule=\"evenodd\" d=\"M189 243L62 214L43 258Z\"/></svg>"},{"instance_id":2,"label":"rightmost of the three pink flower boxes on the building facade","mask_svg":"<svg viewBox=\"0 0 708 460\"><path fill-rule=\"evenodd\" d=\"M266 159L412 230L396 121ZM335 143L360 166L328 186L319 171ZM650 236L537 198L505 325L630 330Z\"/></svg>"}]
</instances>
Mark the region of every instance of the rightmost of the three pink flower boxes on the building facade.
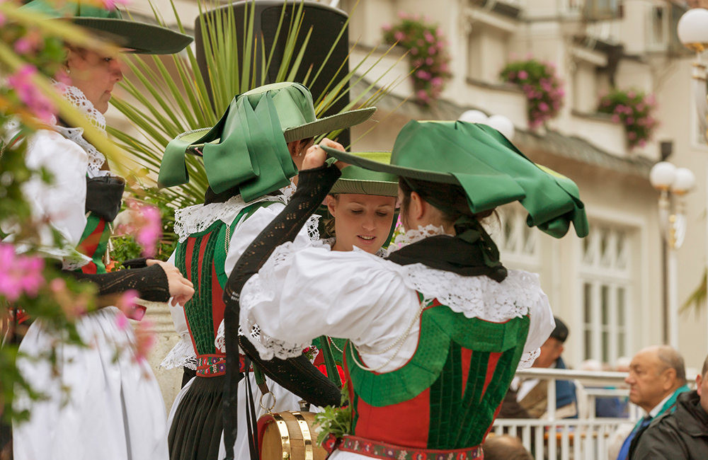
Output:
<instances>
[{"instance_id":1,"label":"rightmost of the three pink flower boxes on the building facade","mask_svg":"<svg viewBox=\"0 0 708 460\"><path fill-rule=\"evenodd\" d=\"M612 122L622 123L627 131L627 145L630 149L643 147L651 139L658 121L652 116L656 108L654 96L636 90L613 89L600 98L598 112L612 115Z\"/></svg>"}]
</instances>

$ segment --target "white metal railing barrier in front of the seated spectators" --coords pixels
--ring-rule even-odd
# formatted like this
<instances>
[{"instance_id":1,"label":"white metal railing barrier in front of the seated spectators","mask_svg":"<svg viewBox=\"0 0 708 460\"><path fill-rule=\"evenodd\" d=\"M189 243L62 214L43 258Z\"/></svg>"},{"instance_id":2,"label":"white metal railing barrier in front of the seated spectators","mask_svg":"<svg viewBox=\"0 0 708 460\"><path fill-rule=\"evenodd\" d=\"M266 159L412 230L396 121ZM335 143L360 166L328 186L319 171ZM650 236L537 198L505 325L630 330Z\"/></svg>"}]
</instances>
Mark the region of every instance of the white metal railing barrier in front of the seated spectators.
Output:
<instances>
[{"instance_id":1,"label":"white metal railing barrier in front of the seated spectators","mask_svg":"<svg viewBox=\"0 0 708 460\"><path fill-rule=\"evenodd\" d=\"M595 399L626 397L624 372L586 372L566 369L524 369L516 376L522 379L547 380L547 401L556 401L556 380L570 380L582 391L576 391L578 406L586 404L587 416L577 419L556 419L556 405L549 404L544 419L498 419L493 432L501 435L520 434L524 447L536 460L615 460L608 459L610 437L623 424L632 424L640 409L629 403L629 418L595 418ZM603 388L607 386L610 388ZM580 401L585 398L585 401Z\"/></svg>"}]
</instances>

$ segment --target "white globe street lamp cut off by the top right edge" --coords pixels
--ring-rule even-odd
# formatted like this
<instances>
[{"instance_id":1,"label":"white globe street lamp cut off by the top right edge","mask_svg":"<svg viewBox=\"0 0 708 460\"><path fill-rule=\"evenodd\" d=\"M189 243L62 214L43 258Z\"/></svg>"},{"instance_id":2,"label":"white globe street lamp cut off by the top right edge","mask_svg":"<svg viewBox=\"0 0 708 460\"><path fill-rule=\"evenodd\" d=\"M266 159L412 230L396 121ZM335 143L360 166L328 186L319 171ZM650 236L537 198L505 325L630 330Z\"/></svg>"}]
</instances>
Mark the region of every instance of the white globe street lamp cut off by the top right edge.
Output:
<instances>
[{"instance_id":1,"label":"white globe street lamp cut off by the top right edge","mask_svg":"<svg viewBox=\"0 0 708 460\"><path fill-rule=\"evenodd\" d=\"M701 131L704 140L708 141L708 88L706 87L706 64L702 62L701 53L708 49L708 10L704 8L693 8L685 13L678 21L678 39L689 50L696 53L696 60L693 62L692 87L693 96L698 111ZM708 196L708 161L706 163L707 196ZM707 201L708 202L708 201ZM708 230L708 219L707 230ZM708 233L706 238L708 245ZM706 260L708 263L708 258ZM708 267L706 269L708 275Z\"/></svg>"}]
</instances>

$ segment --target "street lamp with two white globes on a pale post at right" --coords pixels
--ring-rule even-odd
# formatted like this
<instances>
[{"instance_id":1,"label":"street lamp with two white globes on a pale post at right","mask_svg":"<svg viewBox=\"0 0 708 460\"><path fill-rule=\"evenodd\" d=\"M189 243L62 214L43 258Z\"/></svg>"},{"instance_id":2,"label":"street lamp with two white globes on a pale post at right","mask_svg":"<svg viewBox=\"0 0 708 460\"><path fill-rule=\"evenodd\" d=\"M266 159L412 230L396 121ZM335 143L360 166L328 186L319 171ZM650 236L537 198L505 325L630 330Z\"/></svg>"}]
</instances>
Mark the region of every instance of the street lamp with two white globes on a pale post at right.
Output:
<instances>
[{"instance_id":1,"label":"street lamp with two white globes on a pale post at right","mask_svg":"<svg viewBox=\"0 0 708 460\"><path fill-rule=\"evenodd\" d=\"M668 343L678 350L678 260L676 250L686 236L685 195L695 185L695 176L687 168L676 168L668 161L656 163L649 182L659 195L659 226L668 243Z\"/></svg>"}]
</instances>

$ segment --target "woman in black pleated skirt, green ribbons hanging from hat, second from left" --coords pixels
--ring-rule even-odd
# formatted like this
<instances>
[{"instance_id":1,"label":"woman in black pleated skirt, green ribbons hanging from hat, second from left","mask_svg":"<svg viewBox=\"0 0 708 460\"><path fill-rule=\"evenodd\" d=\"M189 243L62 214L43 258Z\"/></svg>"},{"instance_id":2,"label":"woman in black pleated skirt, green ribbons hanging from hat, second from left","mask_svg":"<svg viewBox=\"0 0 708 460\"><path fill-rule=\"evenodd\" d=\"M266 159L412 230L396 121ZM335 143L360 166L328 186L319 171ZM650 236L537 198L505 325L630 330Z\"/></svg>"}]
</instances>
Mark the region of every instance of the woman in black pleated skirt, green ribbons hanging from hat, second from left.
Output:
<instances>
[{"instance_id":1,"label":"woman in black pleated skirt, green ribbons hanging from hat, second from left","mask_svg":"<svg viewBox=\"0 0 708 460\"><path fill-rule=\"evenodd\" d=\"M175 219L179 243L171 260L195 284L196 293L184 306L171 309L183 340L164 364L184 366L192 361L196 376L185 384L171 410L171 460L223 459L226 455L222 393L227 362L224 335L217 336L224 318L223 286L244 249L282 212L295 190L297 169L312 138L358 125L374 111L352 110L317 120L306 87L270 84L236 96L215 127L185 133L167 147L161 185L188 180L185 153L202 156L209 181L204 205L180 209ZM296 240L309 244L316 237L316 224L313 219L300 226ZM235 449L239 458L249 456L246 420L251 417L243 409L255 410L262 393L275 395L274 410L297 410L302 398L319 404L338 400L338 390L312 366L304 378L309 381L314 376L313 388L308 389L295 371L280 372L287 383L277 376L275 382L257 382L246 356L240 355L235 364L235 372L248 375L238 389L242 423ZM309 361L301 364L309 365ZM264 370L273 376L270 369ZM324 388L316 388L318 384ZM255 401L249 401L247 386L252 386ZM252 415L262 413L259 409ZM234 445L234 439L230 444Z\"/></svg>"}]
</instances>

